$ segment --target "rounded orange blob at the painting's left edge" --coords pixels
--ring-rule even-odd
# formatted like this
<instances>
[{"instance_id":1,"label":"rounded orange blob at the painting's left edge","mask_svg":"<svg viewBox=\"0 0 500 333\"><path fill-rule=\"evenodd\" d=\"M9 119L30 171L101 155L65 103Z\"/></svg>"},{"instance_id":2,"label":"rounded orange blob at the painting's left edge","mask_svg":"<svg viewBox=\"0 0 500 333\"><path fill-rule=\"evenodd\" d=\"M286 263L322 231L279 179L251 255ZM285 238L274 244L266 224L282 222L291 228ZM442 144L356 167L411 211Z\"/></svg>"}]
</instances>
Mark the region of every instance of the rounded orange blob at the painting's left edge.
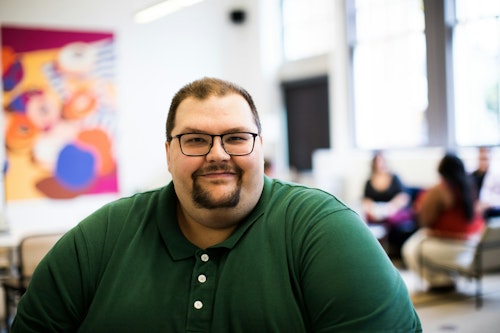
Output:
<instances>
[{"instance_id":1,"label":"rounded orange blob at the painting's left edge","mask_svg":"<svg viewBox=\"0 0 500 333\"><path fill-rule=\"evenodd\" d=\"M32 149L38 129L33 122L25 115L13 113L7 120L7 130L5 133L5 144L10 150Z\"/></svg>"}]
</instances>

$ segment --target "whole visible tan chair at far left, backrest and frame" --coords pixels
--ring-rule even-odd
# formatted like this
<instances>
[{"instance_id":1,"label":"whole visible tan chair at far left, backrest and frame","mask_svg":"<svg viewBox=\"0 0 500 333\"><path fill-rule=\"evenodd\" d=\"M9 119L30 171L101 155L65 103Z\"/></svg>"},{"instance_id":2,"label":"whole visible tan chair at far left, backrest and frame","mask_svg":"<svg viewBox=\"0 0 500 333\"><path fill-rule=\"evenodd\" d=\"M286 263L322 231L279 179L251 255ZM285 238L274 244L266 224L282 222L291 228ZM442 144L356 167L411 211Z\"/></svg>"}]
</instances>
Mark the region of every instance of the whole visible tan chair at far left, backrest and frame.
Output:
<instances>
[{"instance_id":1,"label":"whole visible tan chair at far left, backrest and frame","mask_svg":"<svg viewBox=\"0 0 500 333\"><path fill-rule=\"evenodd\" d=\"M63 233L53 233L25 236L14 250L17 265L12 267L12 277L2 283L7 330L10 328L11 316L15 314L17 303L28 288L35 268L62 235Z\"/></svg>"}]
</instances>

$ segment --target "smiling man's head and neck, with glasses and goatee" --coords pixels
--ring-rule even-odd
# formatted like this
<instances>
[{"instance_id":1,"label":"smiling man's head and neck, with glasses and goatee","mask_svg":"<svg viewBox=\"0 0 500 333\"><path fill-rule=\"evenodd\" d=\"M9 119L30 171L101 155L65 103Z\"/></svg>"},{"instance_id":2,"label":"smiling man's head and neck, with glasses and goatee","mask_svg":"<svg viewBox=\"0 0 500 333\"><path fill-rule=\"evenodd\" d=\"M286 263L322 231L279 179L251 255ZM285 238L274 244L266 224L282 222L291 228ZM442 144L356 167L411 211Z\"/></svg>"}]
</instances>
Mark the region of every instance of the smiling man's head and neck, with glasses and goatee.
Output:
<instances>
[{"instance_id":1,"label":"smiling man's head and neck, with glasses and goatee","mask_svg":"<svg viewBox=\"0 0 500 333\"><path fill-rule=\"evenodd\" d=\"M202 248L226 239L264 186L256 108L243 90L229 88L209 79L193 83L174 97L167 120L168 168L181 203L177 219L186 238Z\"/></svg>"}]
</instances>

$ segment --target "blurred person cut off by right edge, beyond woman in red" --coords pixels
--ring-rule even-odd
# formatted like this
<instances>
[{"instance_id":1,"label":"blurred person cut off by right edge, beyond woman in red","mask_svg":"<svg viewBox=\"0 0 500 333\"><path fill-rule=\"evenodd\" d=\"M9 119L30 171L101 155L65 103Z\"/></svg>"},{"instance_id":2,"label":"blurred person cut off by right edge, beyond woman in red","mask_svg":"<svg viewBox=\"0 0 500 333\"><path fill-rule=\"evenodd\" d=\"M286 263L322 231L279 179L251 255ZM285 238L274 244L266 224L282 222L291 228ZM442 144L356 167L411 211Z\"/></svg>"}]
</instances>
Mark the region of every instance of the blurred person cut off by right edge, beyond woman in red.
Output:
<instances>
[{"instance_id":1,"label":"blurred person cut off by right edge, beyond woman in red","mask_svg":"<svg viewBox=\"0 0 500 333\"><path fill-rule=\"evenodd\" d=\"M500 216L500 170L490 166L491 157L490 147L479 147L478 166L471 174L485 218Z\"/></svg>"}]
</instances>

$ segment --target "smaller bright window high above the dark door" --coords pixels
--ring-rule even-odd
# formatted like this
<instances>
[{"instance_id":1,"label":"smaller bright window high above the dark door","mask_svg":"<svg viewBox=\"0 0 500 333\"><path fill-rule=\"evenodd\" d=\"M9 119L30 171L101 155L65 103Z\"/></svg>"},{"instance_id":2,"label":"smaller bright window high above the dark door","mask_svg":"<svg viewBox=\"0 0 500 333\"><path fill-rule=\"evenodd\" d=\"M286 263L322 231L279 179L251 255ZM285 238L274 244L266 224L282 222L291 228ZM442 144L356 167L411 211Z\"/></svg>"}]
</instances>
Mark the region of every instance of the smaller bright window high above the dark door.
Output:
<instances>
[{"instance_id":1,"label":"smaller bright window high above the dark door","mask_svg":"<svg viewBox=\"0 0 500 333\"><path fill-rule=\"evenodd\" d=\"M282 0L281 13L286 60L330 51L334 29L332 0Z\"/></svg>"}]
</instances>

